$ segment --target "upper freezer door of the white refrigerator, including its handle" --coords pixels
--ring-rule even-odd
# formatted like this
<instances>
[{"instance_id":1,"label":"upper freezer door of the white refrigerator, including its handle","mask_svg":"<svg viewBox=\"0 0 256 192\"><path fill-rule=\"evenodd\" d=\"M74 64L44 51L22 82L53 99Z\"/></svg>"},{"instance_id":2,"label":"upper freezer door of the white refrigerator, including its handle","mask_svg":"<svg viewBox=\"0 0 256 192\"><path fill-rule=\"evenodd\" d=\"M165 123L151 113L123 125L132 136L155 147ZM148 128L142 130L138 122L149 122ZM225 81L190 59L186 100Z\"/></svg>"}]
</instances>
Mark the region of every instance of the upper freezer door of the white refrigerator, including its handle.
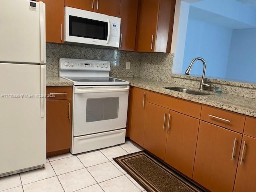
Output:
<instances>
[{"instance_id":1,"label":"upper freezer door of the white refrigerator, including its handle","mask_svg":"<svg viewBox=\"0 0 256 192\"><path fill-rule=\"evenodd\" d=\"M0 62L45 63L45 4L0 0Z\"/></svg>"}]
</instances>

